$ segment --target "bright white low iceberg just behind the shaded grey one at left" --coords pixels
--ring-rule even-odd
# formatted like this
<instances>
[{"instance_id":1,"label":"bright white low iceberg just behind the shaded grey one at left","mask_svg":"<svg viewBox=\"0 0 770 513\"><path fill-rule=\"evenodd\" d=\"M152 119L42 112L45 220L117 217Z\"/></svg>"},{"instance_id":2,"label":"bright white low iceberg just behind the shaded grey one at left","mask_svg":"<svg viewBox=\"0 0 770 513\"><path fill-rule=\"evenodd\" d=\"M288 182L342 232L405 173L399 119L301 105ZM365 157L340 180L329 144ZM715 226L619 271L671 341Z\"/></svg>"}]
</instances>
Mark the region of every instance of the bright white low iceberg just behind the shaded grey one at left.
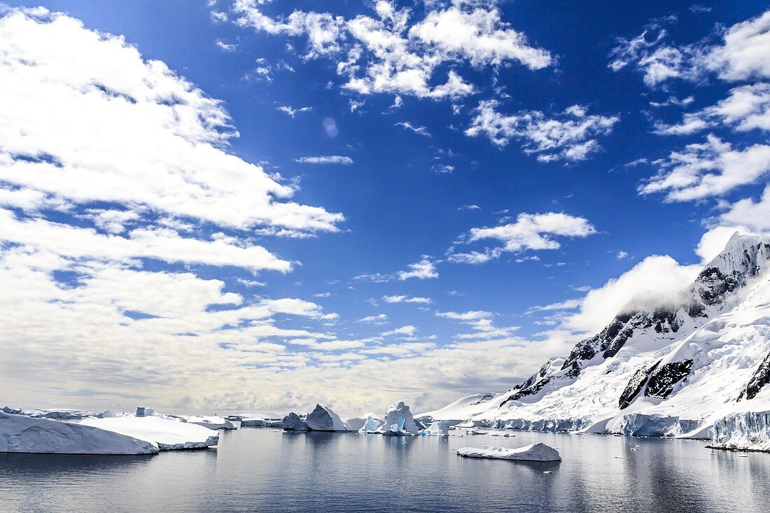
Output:
<instances>
[{"instance_id":1,"label":"bright white low iceberg just behind the shaded grey one at left","mask_svg":"<svg viewBox=\"0 0 770 513\"><path fill-rule=\"evenodd\" d=\"M87 418L80 422L113 433L123 434L138 440L156 444L162 451L174 449L201 449L219 442L219 433L203 428L192 422L182 422L158 416L136 417L123 415L115 417Z\"/></svg>"}]
</instances>

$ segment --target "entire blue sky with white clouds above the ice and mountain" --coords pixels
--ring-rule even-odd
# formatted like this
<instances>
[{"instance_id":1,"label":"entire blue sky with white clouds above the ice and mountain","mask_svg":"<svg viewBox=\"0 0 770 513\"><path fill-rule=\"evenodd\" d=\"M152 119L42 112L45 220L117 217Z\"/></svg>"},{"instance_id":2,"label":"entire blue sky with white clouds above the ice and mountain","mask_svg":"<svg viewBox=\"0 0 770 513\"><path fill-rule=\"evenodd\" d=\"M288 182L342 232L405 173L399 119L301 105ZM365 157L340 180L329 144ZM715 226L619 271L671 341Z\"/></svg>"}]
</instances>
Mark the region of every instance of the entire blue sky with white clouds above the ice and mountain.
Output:
<instances>
[{"instance_id":1,"label":"entire blue sky with white clouds above the ice and mountain","mask_svg":"<svg viewBox=\"0 0 770 513\"><path fill-rule=\"evenodd\" d=\"M0 401L429 411L770 230L765 2L0 4Z\"/></svg>"}]
</instances>

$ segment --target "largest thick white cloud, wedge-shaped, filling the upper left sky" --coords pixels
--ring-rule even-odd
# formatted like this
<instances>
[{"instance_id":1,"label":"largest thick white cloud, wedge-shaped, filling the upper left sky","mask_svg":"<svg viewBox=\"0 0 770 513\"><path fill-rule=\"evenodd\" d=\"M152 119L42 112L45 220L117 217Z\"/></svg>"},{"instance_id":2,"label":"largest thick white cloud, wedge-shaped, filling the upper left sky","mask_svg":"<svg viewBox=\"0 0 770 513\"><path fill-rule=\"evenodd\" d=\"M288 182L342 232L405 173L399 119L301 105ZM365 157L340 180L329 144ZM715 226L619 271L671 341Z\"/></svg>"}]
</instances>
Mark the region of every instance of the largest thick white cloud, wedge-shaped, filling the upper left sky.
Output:
<instances>
[{"instance_id":1,"label":"largest thick white cloud, wedge-shaped, filling the upper left sky","mask_svg":"<svg viewBox=\"0 0 770 513\"><path fill-rule=\"evenodd\" d=\"M287 201L292 186L226 152L237 132L221 102L123 39L12 10L0 46L3 187L244 230L338 230L343 216Z\"/></svg>"}]
</instances>

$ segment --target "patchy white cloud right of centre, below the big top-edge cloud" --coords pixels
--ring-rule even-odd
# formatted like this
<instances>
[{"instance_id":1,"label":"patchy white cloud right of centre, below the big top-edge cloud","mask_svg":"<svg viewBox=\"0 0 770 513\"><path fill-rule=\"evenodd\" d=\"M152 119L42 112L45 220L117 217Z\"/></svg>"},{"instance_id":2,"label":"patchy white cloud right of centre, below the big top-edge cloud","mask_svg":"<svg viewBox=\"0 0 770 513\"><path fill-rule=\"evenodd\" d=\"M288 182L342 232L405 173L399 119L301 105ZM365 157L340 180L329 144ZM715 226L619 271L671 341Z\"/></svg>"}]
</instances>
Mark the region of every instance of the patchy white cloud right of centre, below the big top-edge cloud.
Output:
<instances>
[{"instance_id":1,"label":"patchy white cloud right of centre, below the big top-edge cloud","mask_svg":"<svg viewBox=\"0 0 770 513\"><path fill-rule=\"evenodd\" d=\"M522 110L507 116L497 110L499 102L479 103L476 116L465 131L468 136L487 136L497 146L511 139L524 142L526 153L537 153L541 162L588 158L599 146L596 136L608 135L619 121L618 116L588 115L582 106L571 106L549 117L538 110Z\"/></svg>"}]
</instances>

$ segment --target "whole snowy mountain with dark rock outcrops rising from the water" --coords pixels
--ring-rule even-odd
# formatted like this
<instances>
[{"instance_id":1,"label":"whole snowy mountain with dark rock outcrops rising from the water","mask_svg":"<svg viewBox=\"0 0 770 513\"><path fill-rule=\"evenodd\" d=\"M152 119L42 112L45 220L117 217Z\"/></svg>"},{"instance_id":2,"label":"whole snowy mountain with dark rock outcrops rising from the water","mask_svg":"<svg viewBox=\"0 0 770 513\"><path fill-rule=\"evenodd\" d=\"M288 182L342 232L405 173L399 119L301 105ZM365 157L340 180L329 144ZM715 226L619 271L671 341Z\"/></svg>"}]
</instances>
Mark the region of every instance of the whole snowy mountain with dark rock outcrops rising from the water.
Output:
<instances>
[{"instance_id":1,"label":"whole snowy mountain with dark rock outcrops rising from the water","mask_svg":"<svg viewBox=\"0 0 770 513\"><path fill-rule=\"evenodd\" d=\"M682 438L715 435L716 423L716 443L766 441L768 267L770 237L736 233L675 300L623 309L506 393L464 397L425 416L469 426ZM747 430L758 433L747 437Z\"/></svg>"}]
</instances>

